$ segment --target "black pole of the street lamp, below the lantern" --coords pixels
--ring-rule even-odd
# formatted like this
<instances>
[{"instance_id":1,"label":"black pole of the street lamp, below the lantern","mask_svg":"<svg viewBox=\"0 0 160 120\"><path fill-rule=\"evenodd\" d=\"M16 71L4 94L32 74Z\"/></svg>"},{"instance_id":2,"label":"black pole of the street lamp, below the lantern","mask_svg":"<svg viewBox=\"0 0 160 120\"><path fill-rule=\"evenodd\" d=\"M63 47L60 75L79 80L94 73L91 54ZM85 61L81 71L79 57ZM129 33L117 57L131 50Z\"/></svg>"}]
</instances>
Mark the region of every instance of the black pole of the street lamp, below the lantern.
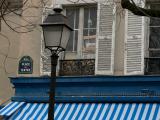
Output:
<instances>
[{"instance_id":1,"label":"black pole of the street lamp, below the lantern","mask_svg":"<svg viewBox=\"0 0 160 120\"><path fill-rule=\"evenodd\" d=\"M51 79L50 79L50 91L49 91L49 112L48 119L54 120L54 104L55 104L55 88L56 88L56 66L58 61L58 55L52 51L51 55Z\"/></svg>"}]
</instances>

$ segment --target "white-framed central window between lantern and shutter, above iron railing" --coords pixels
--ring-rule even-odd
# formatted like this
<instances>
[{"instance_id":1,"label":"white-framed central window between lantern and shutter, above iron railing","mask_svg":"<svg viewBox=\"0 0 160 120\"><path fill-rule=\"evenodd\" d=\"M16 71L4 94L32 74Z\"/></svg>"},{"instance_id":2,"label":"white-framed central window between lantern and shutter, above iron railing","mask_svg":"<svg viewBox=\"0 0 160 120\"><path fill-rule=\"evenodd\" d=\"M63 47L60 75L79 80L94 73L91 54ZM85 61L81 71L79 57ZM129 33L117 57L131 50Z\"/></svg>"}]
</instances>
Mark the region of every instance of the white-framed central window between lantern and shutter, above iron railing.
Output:
<instances>
[{"instance_id":1,"label":"white-framed central window between lantern and shutter, above iron railing","mask_svg":"<svg viewBox=\"0 0 160 120\"><path fill-rule=\"evenodd\" d=\"M66 16L69 18L70 26L74 29L66 50L70 52L81 51L82 58L84 56L94 58L97 6L67 7Z\"/></svg>"}]
</instances>

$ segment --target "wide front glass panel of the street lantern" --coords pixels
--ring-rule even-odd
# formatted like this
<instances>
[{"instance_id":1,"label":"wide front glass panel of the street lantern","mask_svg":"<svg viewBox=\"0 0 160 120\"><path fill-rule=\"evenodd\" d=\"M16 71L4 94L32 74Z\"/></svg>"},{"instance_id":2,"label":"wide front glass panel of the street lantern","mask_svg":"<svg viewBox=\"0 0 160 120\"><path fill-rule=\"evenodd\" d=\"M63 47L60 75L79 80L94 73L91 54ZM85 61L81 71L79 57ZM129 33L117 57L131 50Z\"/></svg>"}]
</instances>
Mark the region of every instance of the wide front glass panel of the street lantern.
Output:
<instances>
[{"instance_id":1,"label":"wide front glass panel of the street lantern","mask_svg":"<svg viewBox=\"0 0 160 120\"><path fill-rule=\"evenodd\" d=\"M43 26L46 47L57 47L60 45L62 26Z\"/></svg>"}]
</instances>

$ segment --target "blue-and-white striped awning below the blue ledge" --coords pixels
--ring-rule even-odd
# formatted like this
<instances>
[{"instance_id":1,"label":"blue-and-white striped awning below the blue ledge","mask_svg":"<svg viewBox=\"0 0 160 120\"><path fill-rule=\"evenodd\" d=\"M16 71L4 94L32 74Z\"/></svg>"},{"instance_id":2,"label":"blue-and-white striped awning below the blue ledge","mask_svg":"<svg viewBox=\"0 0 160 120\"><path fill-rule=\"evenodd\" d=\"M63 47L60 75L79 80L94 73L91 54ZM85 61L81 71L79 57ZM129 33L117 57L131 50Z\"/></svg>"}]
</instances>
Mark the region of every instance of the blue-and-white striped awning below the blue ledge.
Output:
<instances>
[{"instance_id":1,"label":"blue-and-white striped awning below the blue ledge","mask_svg":"<svg viewBox=\"0 0 160 120\"><path fill-rule=\"evenodd\" d=\"M47 120L48 118L48 104L46 103L22 102L17 105L21 106L19 108L13 104L14 102L0 110L0 115L10 115L11 120ZM159 120L160 104L57 103L54 115L55 120Z\"/></svg>"}]
</instances>

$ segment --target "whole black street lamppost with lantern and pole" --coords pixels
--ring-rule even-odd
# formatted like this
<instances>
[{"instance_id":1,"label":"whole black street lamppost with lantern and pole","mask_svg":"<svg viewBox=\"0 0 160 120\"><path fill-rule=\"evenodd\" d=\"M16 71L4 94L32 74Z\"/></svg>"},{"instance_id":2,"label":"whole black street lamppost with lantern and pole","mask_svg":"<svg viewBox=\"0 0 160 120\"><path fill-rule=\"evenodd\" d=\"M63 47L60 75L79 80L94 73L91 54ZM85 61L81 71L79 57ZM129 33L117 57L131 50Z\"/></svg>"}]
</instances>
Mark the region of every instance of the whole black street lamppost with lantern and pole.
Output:
<instances>
[{"instance_id":1,"label":"whole black street lamppost with lantern and pole","mask_svg":"<svg viewBox=\"0 0 160 120\"><path fill-rule=\"evenodd\" d=\"M41 24L43 29L45 48L51 51L51 81L49 92L48 119L54 120L56 66L58 54L65 51L72 28L68 25L67 17L61 14L62 7L56 6L54 14L49 14Z\"/></svg>"}]
</instances>

